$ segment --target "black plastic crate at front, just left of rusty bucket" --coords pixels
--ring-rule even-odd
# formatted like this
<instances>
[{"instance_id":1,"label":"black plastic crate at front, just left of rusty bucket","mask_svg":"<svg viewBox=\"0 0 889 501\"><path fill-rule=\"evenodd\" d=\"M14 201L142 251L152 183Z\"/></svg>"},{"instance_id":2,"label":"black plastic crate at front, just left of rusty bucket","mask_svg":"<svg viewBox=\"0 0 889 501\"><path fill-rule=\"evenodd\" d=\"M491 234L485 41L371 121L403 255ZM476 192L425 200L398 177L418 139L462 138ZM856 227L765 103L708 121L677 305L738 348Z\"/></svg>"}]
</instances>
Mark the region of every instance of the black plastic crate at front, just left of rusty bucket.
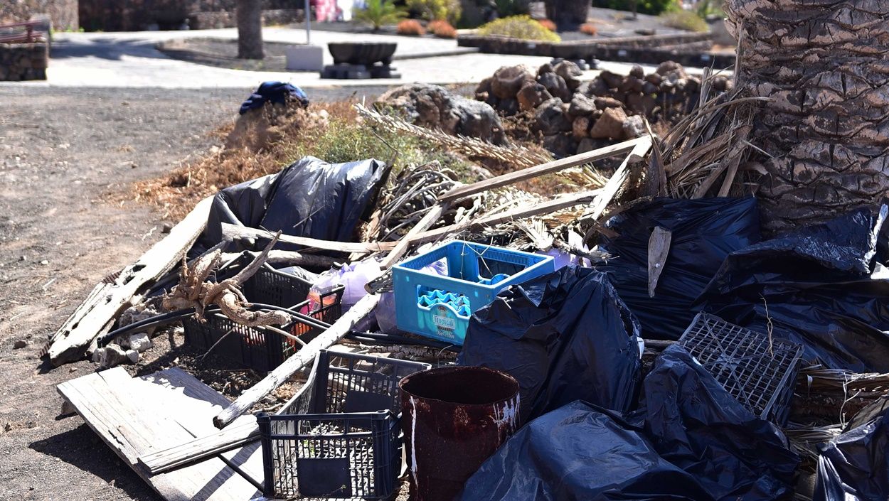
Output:
<instances>
[{"instance_id":1,"label":"black plastic crate at front, just left of rusty bucket","mask_svg":"<svg viewBox=\"0 0 889 501\"><path fill-rule=\"evenodd\" d=\"M322 351L306 385L260 415L267 497L385 499L395 493L402 434L398 382L419 362Z\"/></svg>"}]
</instances>

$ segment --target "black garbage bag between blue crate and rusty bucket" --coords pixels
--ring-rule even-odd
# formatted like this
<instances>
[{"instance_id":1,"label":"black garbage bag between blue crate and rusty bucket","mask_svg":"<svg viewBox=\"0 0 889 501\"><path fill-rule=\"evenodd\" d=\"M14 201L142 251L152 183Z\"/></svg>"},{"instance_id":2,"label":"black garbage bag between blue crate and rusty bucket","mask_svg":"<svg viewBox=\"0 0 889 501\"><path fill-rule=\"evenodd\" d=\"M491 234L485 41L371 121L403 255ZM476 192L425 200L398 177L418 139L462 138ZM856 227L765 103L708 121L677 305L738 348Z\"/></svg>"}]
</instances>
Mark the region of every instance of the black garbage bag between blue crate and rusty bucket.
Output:
<instances>
[{"instance_id":1,"label":"black garbage bag between blue crate and rusty bucket","mask_svg":"<svg viewBox=\"0 0 889 501\"><path fill-rule=\"evenodd\" d=\"M625 411L637 396L638 332L605 274L565 266L479 309L458 362L516 378L523 422L575 400Z\"/></svg>"}]
</instances>

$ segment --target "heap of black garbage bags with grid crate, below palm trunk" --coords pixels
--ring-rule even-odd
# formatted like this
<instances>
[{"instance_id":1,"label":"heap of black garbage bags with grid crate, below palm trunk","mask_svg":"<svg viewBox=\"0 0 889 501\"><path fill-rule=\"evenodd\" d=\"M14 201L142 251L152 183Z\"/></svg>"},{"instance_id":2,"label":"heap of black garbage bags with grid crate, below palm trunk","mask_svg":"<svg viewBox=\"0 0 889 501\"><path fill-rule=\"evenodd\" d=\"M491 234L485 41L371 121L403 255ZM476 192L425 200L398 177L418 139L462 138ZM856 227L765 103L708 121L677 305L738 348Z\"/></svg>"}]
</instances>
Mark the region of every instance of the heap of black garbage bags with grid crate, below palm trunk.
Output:
<instances>
[{"instance_id":1,"label":"heap of black garbage bags with grid crate, below palm trunk","mask_svg":"<svg viewBox=\"0 0 889 501\"><path fill-rule=\"evenodd\" d=\"M889 372L886 212L764 240L752 198L643 201L606 224L607 262L502 291L458 362L517 378L525 425L461 499L889 498L885 391L848 414L815 395Z\"/></svg>"}]
</instances>

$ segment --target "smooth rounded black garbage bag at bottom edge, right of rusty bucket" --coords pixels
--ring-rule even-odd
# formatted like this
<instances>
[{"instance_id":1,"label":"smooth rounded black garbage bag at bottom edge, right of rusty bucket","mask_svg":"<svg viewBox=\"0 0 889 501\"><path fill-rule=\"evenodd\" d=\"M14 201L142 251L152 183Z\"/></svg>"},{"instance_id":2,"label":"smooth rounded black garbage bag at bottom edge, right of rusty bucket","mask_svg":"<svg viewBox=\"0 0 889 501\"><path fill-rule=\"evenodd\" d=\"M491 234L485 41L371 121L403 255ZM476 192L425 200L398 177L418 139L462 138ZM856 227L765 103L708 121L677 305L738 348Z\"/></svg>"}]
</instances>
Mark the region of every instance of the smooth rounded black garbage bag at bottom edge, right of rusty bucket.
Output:
<instances>
[{"instance_id":1,"label":"smooth rounded black garbage bag at bottom edge, right of rusty bucket","mask_svg":"<svg viewBox=\"0 0 889 501\"><path fill-rule=\"evenodd\" d=\"M640 428L573 402L509 438L464 486L461 501L710 501Z\"/></svg>"}]
</instances>

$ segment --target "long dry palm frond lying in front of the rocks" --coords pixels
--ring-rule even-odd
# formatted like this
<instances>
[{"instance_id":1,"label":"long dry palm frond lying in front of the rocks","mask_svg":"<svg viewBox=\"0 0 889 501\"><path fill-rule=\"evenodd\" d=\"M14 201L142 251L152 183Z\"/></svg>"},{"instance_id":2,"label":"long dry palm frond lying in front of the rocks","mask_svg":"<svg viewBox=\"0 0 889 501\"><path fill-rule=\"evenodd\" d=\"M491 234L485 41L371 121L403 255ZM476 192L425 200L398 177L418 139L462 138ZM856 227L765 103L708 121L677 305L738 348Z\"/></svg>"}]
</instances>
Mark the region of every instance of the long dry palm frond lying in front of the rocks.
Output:
<instances>
[{"instance_id":1,"label":"long dry palm frond lying in front of the rocks","mask_svg":"<svg viewBox=\"0 0 889 501\"><path fill-rule=\"evenodd\" d=\"M388 130L404 131L444 147L453 153L459 153L469 158L489 158L498 162L512 164L517 169L533 167L534 165L552 160L552 157L542 151L534 151L517 145L501 147L481 139L453 136L443 131L434 131L414 125L396 116L383 115L361 104L356 104L355 109L364 119L383 125Z\"/></svg>"}]
</instances>

